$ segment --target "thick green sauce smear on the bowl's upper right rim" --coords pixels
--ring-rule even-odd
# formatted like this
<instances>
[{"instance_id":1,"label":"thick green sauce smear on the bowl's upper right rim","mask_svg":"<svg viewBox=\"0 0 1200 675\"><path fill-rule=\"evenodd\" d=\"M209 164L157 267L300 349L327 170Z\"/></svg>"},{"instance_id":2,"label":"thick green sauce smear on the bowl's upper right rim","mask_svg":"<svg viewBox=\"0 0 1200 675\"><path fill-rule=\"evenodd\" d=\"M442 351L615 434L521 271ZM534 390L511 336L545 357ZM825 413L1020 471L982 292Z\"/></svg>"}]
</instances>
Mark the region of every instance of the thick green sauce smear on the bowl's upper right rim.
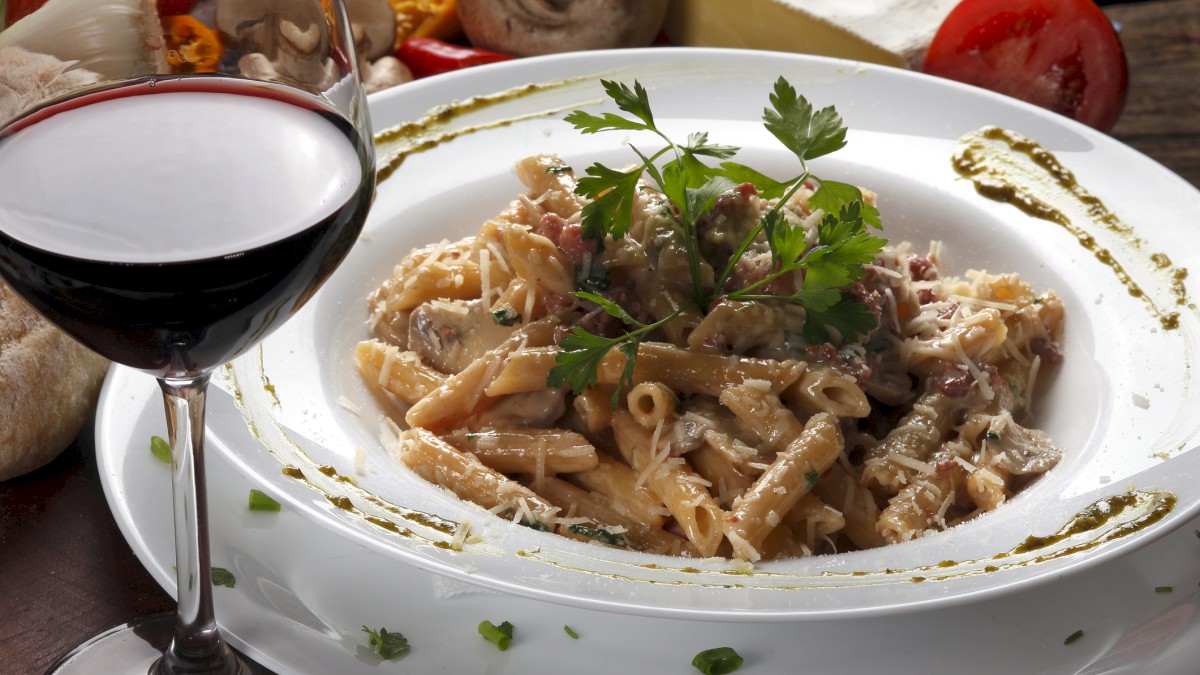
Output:
<instances>
[{"instance_id":1,"label":"thick green sauce smear on the bowl's upper right rim","mask_svg":"<svg viewBox=\"0 0 1200 675\"><path fill-rule=\"evenodd\" d=\"M1145 241L1133 228L1034 141L988 126L960 138L952 161L954 169L974 183L976 191L984 197L1012 204L1070 232L1112 270L1130 295L1145 301L1163 329L1180 327L1180 309L1195 311L1184 285L1188 270L1175 267L1165 253L1146 255ZM1073 219L1066 211L1082 217Z\"/></svg>"}]
</instances>

